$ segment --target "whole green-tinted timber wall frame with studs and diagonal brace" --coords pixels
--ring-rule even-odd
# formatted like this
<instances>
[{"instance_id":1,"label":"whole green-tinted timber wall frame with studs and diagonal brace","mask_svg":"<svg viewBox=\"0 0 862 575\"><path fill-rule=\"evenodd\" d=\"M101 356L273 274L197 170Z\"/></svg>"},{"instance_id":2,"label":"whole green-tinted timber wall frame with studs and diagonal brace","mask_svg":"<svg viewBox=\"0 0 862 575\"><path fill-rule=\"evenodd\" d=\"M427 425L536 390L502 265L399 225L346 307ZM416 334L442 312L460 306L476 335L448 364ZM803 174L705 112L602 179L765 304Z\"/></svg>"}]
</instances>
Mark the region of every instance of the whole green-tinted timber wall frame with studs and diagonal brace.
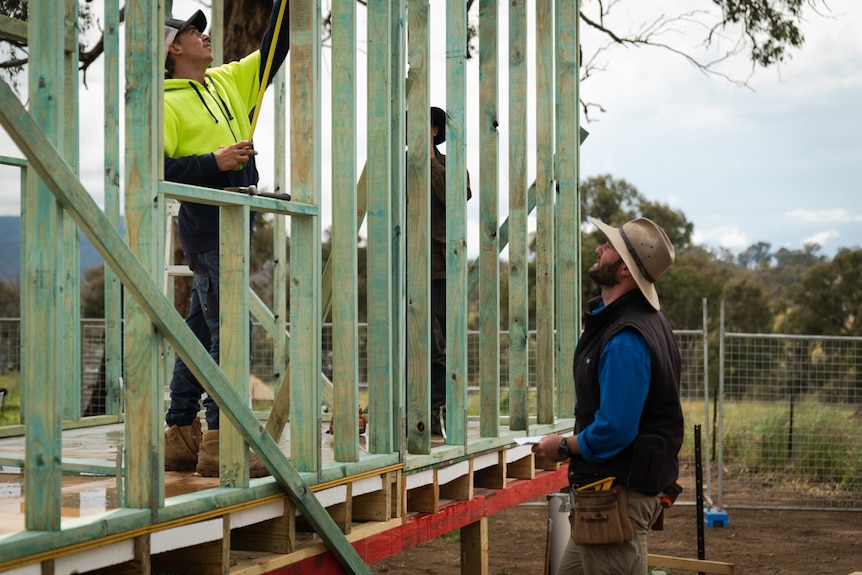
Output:
<instances>
[{"instance_id":1,"label":"whole green-tinted timber wall frame with studs and diagonal brace","mask_svg":"<svg viewBox=\"0 0 862 575\"><path fill-rule=\"evenodd\" d=\"M508 4L508 11L506 6ZM492 454L505 468L516 436L570 428L574 405L571 357L579 326L578 2L572 0L479 0L479 93L481 168L473 176L481 212L480 257L468 267L466 250L465 115L467 110L466 14L463 0L446 2L447 122L447 428L445 445L430 436L429 322L429 52L428 0L369 0L368 134L356 133L356 2L333 0L332 18L332 257L321 265L321 7L319 0L290 3L289 69L275 83L276 142L289 138L291 156L276 145L276 191L290 166L291 202L248 197L160 180L161 86L165 7L157 0L125 5L125 46L119 45L118 0L105 0L106 149L105 207L99 208L77 176L78 72L74 0L29 0L28 23L5 18L0 32L29 45L29 111L10 87L0 85L0 120L26 157L29 177L22 198L22 357L24 433L27 451L25 523L0 538L0 569L50 559L52 552L96 540L135 541L138 572L148 572L149 534L191 522L215 509L262 502L286 494L339 563L349 572L368 568L314 494L314 486L397 470L399 489L408 479L444 466L473 464ZM535 9L528 31L527 10ZM214 0L210 22L222 22ZM170 9L168 2L167 9ZM500 37L508 18L508 37ZM408 34L409 30L409 34ZM535 53L528 35L535 34ZM154 39L157 39L154 41ZM218 58L217 51L217 58ZM125 142L119 142L120 54L125 54ZM506 55L509 82L500 86L497 61ZM535 82L527 68L535 65ZM286 66L287 67L287 66ZM409 69L406 81L404 70ZM285 75L288 79L285 80ZM286 86L286 88L285 88ZM272 89L271 89L272 90ZM500 142L499 96L507 94L508 138ZM290 95L286 109L285 93ZM534 96L535 114L527 110ZM406 109L416 113L405 119ZM285 133L285 117L289 133ZM535 117L535 125L528 119ZM408 152L403 149L407 133ZM528 131L535 149L528 149ZM368 162L356 181L357 145ZM124 169L120 170L120 150ZM508 154L508 174L498 158ZM528 185L527 158L535 153L536 181ZM118 233L120 182L125 188L125 237ZM405 187L406 190L405 192ZM507 188L508 206L500 206ZM409 205L405 198L411 199ZM160 286L164 282L166 205L183 199L221 206L222 338L219 369L186 327ZM412 201L415 200L415 201ZM527 281L528 216L536 210L536 293ZM508 212L502 226L499 213ZM285 306L269 310L248 289L251 210L276 214L276 302L290 293L290 334ZM356 237L367 214L368 453L358 449ZM290 218L290 254L284 253ZM84 233L106 262L108 409L122 416L125 446L118 454L122 508L92 520L61 525L63 422L80 418L76 382L69 365L80 356L76 234ZM410 230L407 237L402 232ZM409 241L408 241L409 240ZM62 250L56 246L66 246ZM509 345L500 347L499 258L508 247ZM290 262L288 277L285 262ZM405 274L406 271L406 274ZM405 279L406 275L406 279ZM125 289L120 321L120 286ZM336 289L337 286L337 289ZM481 414L478 437L468 436L467 301L480 294ZM535 407L528 394L528 301L537 310ZM248 407L249 310L280 342L276 364L283 379L265 425ZM332 381L321 376L321 323L332 314ZM120 326L123 326L121 330ZM122 338L122 342L121 342ZM121 345L122 343L122 345ZM120 350L124 350L121 357ZM221 487L200 497L165 498L163 388L160 360L168 350L187 365L216 399L225 416L221 431ZM289 356L288 356L289 353ZM500 357L508 356L509 417L501 424ZM406 361L405 361L406 359ZM72 370L79 373L80 369ZM122 382L122 386L120 385ZM320 406L333 409L335 463L321 457ZM289 407L289 418L288 418ZM78 410L78 411L75 411ZM290 425L290 453L276 439ZM475 435L475 434L474 434ZM276 438L276 439L273 439ZM405 439L406 438L406 439ZM272 472L250 481L246 445ZM122 457L119 457L122 455ZM530 458L532 461L532 458ZM105 466L104 473L112 471ZM532 463L528 465L532 468ZM557 471L559 473L559 470ZM531 472L532 474L532 472ZM531 475L532 477L532 475ZM502 483L505 484L503 472ZM383 480L384 483L386 480ZM435 475L436 482L436 475ZM399 508L401 509L401 508ZM331 510L330 510L331 511ZM406 509L401 509L403 514ZM146 537L142 536L146 535ZM143 538L142 538L143 537ZM146 565L144 567L143 565ZM5 567L4 567L5 566Z\"/></svg>"}]
</instances>

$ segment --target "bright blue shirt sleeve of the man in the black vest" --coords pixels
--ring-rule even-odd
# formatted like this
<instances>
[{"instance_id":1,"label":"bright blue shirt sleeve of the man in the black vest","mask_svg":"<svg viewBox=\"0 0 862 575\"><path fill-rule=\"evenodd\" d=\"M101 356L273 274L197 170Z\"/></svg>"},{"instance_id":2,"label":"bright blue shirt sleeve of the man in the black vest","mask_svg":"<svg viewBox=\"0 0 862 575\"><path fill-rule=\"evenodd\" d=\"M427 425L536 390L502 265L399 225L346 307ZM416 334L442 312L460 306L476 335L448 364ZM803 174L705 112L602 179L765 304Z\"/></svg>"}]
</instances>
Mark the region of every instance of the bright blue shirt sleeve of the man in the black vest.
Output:
<instances>
[{"instance_id":1,"label":"bright blue shirt sleeve of the man in the black vest","mask_svg":"<svg viewBox=\"0 0 862 575\"><path fill-rule=\"evenodd\" d=\"M601 313L604 306L593 313ZM638 434L649 392L652 357L635 329L624 329L608 341L599 358L601 405L595 420L578 434L578 448L587 461L607 460L631 444Z\"/></svg>"}]
</instances>

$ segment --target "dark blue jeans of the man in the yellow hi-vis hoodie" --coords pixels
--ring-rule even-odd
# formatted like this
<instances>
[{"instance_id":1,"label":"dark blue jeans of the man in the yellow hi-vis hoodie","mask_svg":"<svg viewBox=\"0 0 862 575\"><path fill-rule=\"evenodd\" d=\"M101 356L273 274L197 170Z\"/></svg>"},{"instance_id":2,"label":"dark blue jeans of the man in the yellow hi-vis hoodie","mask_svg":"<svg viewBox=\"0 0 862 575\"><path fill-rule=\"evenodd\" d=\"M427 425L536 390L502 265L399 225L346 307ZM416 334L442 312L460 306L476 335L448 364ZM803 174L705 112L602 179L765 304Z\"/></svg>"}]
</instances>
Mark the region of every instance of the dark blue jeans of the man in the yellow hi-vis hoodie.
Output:
<instances>
[{"instance_id":1,"label":"dark blue jeans of the man in the yellow hi-vis hoodie","mask_svg":"<svg viewBox=\"0 0 862 575\"><path fill-rule=\"evenodd\" d=\"M219 362L219 253L186 254L189 267L194 272L192 303L186 325L198 341L209 350L213 360ZM205 390L180 356L174 360L171 378L171 407L165 422L172 425L191 425L200 409ZM216 402L207 394L203 399L207 427L219 428L219 410Z\"/></svg>"}]
</instances>

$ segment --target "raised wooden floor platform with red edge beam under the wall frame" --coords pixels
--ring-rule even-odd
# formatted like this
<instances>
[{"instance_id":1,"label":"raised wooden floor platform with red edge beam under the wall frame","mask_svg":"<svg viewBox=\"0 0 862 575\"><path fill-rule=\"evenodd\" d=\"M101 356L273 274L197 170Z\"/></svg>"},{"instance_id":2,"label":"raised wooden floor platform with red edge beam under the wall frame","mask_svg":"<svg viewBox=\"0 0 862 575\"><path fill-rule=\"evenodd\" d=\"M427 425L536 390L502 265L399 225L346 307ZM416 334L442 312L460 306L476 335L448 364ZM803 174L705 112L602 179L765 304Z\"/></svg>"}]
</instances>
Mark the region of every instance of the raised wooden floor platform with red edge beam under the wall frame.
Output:
<instances>
[{"instance_id":1,"label":"raised wooden floor platform with red edge beam under the wall frame","mask_svg":"<svg viewBox=\"0 0 862 575\"><path fill-rule=\"evenodd\" d=\"M64 475L62 488L64 530L122 511L116 477L74 471L96 465L96 457L104 467L113 465L117 449L122 448L122 429L117 424L64 432L64 467L68 455L73 469ZM0 439L0 543L19 537L16 532L24 527L23 474L9 466L18 453L23 454L23 447L21 437ZM411 457L407 456L408 463ZM462 541L474 540L477 548L487 549L482 538L487 538L488 516L543 497L566 483L565 466L537 460L529 445L510 445L431 467L389 465L311 489L362 559L372 563L456 529L464 529ZM48 564L55 575L342 572L290 498L275 489L271 479L254 480L254 484L257 489L273 489L253 501L212 505L206 512L59 545L38 556L10 558L8 547L4 553L0 545L0 572L41 575ZM207 498L212 493L215 499L223 491L217 478L165 474L168 498ZM470 561L470 571L465 572L481 573L481 566L476 571Z\"/></svg>"}]
</instances>

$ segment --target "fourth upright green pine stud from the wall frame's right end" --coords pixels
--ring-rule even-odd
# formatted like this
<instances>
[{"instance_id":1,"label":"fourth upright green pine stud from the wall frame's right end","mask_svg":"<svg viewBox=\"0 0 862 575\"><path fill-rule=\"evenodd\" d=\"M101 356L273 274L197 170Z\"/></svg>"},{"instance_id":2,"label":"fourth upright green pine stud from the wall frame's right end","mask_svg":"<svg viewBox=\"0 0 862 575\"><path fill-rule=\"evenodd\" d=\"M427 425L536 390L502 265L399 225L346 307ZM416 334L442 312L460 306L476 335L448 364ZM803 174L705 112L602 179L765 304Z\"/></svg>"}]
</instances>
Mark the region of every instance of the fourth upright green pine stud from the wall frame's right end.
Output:
<instances>
[{"instance_id":1,"label":"fourth upright green pine stud from the wall frame's right end","mask_svg":"<svg viewBox=\"0 0 862 575\"><path fill-rule=\"evenodd\" d=\"M479 0L479 261L467 293L479 283L479 434L500 435L500 219L499 3ZM475 201L475 200L474 200ZM533 194L535 202L535 194ZM530 209L532 209L530 207ZM508 228L508 224L506 224ZM472 284L472 285L471 285Z\"/></svg>"}]
</instances>

